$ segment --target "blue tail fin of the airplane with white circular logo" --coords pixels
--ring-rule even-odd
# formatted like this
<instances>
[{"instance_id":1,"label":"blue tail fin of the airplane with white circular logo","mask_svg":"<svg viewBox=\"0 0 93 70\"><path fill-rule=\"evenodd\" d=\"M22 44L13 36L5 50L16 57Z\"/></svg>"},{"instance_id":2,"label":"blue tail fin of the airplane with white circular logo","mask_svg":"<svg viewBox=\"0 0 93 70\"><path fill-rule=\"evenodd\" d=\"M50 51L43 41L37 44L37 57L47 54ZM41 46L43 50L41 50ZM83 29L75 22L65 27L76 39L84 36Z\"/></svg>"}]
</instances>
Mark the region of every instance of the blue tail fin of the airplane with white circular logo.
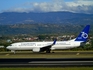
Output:
<instances>
[{"instance_id":1,"label":"blue tail fin of the airplane with white circular logo","mask_svg":"<svg viewBox=\"0 0 93 70\"><path fill-rule=\"evenodd\" d=\"M88 33L89 33L90 25L87 25L82 32L78 35L78 37L75 39L75 41L81 41L86 42L88 39Z\"/></svg>"}]
</instances>

